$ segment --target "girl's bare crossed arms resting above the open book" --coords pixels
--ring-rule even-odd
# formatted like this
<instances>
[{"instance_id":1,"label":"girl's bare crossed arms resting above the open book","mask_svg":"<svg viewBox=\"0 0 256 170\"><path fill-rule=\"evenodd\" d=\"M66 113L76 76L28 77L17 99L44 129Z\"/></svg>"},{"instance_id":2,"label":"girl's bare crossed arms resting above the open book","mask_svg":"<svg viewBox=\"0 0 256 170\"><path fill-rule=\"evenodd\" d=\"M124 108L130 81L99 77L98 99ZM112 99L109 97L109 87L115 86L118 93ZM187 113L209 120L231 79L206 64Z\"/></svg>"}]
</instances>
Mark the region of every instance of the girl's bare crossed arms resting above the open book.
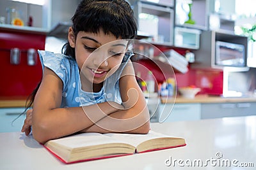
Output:
<instances>
[{"instance_id":1,"label":"girl's bare crossed arms resting above the open book","mask_svg":"<svg viewBox=\"0 0 256 170\"><path fill-rule=\"evenodd\" d=\"M130 65L129 65L130 64ZM132 73L131 62L125 67ZM147 104L133 75L120 78L122 105L105 102L90 106L60 108L63 84L60 78L45 68L42 83L36 93L33 111L28 111L22 132L40 143L75 132L129 132L146 134L149 131ZM132 96L132 97L131 97Z\"/></svg>"}]
</instances>

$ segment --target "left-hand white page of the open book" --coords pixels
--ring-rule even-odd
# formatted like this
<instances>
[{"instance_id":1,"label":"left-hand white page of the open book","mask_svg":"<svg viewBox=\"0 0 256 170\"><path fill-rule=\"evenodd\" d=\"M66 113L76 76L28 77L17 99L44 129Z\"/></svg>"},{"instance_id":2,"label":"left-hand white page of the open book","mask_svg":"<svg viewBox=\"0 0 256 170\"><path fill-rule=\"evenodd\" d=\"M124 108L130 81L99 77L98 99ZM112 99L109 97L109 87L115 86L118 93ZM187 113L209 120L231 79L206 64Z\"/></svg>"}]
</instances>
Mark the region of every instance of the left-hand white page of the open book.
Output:
<instances>
[{"instance_id":1,"label":"left-hand white page of the open book","mask_svg":"<svg viewBox=\"0 0 256 170\"><path fill-rule=\"evenodd\" d=\"M84 146L94 146L108 143L120 143L120 141L116 139L111 139L108 136L93 132L67 136L65 138L54 139L49 142L67 146L68 148L79 148ZM45 143L45 145L47 146L47 143Z\"/></svg>"}]
</instances>

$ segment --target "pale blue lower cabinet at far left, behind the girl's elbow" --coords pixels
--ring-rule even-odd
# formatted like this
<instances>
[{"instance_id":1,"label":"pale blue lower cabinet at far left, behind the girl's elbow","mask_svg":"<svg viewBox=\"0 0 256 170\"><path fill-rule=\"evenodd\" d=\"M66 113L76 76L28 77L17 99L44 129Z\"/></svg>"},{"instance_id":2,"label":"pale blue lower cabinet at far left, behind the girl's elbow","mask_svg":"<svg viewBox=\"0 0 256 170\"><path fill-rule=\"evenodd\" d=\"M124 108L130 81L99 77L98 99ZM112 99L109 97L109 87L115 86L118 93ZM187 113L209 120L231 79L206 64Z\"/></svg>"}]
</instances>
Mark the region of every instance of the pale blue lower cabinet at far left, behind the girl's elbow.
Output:
<instances>
[{"instance_id":1,"label":"pale blue lower cabinet at far left, behind the girl's elbow","mask_svg":"<svg viewBox=\"0 0 256 170\"><path fill-rule=\"evenodd\" d=\"M24 108L0 108L0 132L20 131L26 118L26 114L19 117L23 111Z\"/></svg>"}]
</instances>

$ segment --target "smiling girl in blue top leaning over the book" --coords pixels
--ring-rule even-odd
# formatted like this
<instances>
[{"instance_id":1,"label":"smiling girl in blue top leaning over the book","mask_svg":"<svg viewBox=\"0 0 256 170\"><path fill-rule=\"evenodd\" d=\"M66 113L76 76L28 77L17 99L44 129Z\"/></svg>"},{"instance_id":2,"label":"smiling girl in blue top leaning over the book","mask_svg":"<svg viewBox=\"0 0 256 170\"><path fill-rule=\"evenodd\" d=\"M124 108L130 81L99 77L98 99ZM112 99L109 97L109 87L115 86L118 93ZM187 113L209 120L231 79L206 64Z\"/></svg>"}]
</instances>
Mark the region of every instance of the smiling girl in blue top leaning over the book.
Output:
<instances>
[{"instance_id":1,"label":"smiling girl in blue top leaning over the book","mask_svg":"<svg viewBox=\"0 0 256 170\"><path fill-rule=\"evenodd\" d=\"M40 143L76 132L147 134L147 104L127 52L135 36L127 2L81 1L63 54L38 52L43 77L21 131L32 126Z\"/></svg>"}]
</instances>

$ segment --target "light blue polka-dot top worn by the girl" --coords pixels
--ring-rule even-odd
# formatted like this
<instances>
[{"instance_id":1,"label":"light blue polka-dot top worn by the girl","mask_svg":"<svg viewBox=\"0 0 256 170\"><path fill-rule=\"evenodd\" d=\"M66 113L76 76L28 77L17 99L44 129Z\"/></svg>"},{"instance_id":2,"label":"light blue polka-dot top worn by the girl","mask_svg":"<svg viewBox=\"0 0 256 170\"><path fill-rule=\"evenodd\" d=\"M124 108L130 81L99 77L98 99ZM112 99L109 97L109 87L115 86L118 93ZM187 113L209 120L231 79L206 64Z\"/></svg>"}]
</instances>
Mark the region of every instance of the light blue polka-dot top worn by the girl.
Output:
<instances>
[{"instance_id":1,"label":"light blue polka-dot top worn by the girl","mask_svg":"<svg viewBox=\"0 0 256 170\"><path fill-rule=\"evenodd\" d=\"M119 78L127 64L127 61L133 55L125 53L122 64L111 76L106 78L100 92L84 92L81 89L81 80L79 67L76 60L61 53L52 53L38 50L42 68L48 67L63 82L61 108L88 106L90 104L103 103L106 101L115 101L122 103L120 96Z\"/></svg>"}]
</instances>

